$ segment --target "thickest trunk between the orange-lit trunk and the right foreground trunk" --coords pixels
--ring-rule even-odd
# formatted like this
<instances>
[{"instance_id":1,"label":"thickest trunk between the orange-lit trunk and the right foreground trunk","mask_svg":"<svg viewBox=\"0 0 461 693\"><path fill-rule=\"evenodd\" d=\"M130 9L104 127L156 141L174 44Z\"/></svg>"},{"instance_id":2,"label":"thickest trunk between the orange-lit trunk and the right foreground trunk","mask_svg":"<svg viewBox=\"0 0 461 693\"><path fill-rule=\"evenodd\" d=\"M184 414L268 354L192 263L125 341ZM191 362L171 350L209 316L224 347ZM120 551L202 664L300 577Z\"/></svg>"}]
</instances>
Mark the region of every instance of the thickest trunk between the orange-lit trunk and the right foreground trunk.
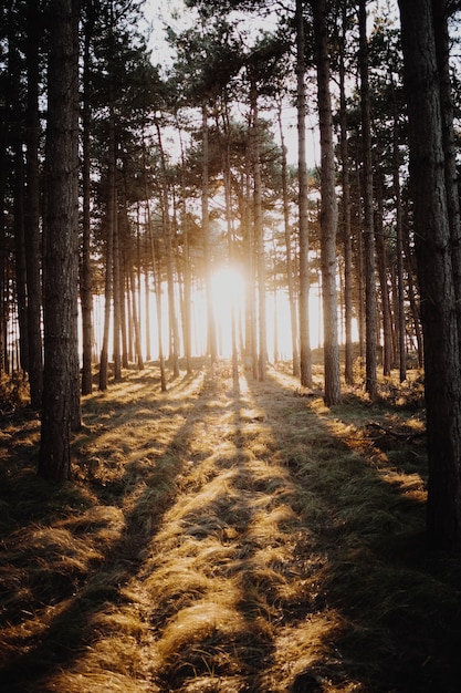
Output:
<instances>
[{"instance_id":1,"label":"thickest trunk between the orange-lit trunk and the right foreground trunk","mask_svg":"<svg viewBox=\"0 0 461 693\"><path fill-rule=\"evenodd\" d=\"M368 43L366 0L358 3L360 32L360 111L364 170L364 270L365 270L365 331L366 363L365 390L370 400L378 394L377 369L377 314L375 277L375 235L373 230L373 165L371 165L371 116L368 79Z\"/></svg>"}]
</instances>

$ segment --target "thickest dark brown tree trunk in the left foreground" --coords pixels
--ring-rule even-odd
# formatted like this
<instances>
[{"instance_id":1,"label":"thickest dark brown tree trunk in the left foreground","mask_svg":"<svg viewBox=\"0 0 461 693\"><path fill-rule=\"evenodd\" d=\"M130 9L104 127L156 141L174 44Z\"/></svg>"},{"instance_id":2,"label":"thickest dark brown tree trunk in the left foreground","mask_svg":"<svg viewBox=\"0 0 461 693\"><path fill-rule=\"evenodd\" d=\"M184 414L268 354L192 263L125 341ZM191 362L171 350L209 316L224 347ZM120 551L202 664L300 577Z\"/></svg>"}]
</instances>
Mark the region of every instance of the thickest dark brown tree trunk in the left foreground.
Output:
<instances>
[{"instance_id":1,"label":"thickest dark brown tree trunk in the left foreground","mask_svg":"<svg viewBox=\"0 0 461 693\"><path fill-rule=\"evenodd\" d=\"M44 383L39 475L64 482L77 362L78 1L50 8Z\"/></svg>"}]
</instances>

